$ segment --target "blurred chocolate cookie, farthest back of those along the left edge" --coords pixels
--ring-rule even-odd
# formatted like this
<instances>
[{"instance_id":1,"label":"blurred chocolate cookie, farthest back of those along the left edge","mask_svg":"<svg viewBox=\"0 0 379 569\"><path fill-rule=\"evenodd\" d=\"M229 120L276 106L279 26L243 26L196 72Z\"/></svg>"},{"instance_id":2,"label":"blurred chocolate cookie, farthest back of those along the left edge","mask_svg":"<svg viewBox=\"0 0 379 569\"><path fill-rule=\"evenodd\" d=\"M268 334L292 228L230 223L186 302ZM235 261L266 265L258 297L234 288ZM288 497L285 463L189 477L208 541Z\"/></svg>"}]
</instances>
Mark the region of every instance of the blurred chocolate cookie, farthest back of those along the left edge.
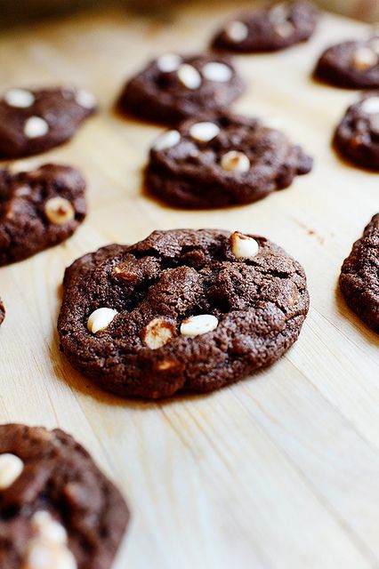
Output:
<instances>
[{"instance_id":1,"label":"blurred chocolate cookie, farthest back of those along the left edge","mask_svg":"<svg viewBox=\"0 0 379 569\"><path fill-rule=\"evenodd\" d=\"M73 87L9 89L0 100L0 158L45 152L69 140L96 102Z\"/></svg>"}]
</instances>

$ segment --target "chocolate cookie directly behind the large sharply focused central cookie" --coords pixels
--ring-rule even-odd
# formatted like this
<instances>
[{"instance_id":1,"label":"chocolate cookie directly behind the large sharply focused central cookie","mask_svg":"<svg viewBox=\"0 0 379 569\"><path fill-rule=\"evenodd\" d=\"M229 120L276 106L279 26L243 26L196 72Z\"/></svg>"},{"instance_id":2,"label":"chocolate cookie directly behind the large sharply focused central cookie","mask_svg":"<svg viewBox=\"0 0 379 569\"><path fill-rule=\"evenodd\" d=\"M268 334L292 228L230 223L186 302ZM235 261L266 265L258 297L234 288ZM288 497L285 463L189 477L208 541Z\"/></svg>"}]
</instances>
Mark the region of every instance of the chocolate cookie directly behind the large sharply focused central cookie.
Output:
<instances>
[{"instance_id":1,"label":"chocolate cookie directly behind the large sharply focused central cookie","mask_svg":"<svg viewBox=\"0 0 379 569\"><path fill-rule=\"evenodd\" d=\"M245 116L190 119L150 150L146 188L168 204L247 204L310 172L312 159L284 134Z\"/></svg>"}]
</instances>

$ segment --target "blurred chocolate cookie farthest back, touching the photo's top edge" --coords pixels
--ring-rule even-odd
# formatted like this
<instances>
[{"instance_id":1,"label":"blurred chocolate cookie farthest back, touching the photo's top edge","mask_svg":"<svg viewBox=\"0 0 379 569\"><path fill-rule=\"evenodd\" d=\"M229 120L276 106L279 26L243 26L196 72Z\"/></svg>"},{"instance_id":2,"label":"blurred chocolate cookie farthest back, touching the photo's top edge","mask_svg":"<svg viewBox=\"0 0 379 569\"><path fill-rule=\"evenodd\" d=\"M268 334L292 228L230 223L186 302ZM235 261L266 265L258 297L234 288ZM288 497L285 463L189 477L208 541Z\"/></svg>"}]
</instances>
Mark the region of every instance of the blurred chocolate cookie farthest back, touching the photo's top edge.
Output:
<instances>
[{"instance_id":1,"label":"blurred chocolate cookie farthest back, touching the photo's top edge","mask_svg":"<svg viewBox=\"0 0 379 569\"><path fill-rule=\"evenodd\" d=\"M231 20L214 37L213 45L232 52L273 52L307 40L319 12L308 2L280 2Z\"/></svg>"}]
</instances>

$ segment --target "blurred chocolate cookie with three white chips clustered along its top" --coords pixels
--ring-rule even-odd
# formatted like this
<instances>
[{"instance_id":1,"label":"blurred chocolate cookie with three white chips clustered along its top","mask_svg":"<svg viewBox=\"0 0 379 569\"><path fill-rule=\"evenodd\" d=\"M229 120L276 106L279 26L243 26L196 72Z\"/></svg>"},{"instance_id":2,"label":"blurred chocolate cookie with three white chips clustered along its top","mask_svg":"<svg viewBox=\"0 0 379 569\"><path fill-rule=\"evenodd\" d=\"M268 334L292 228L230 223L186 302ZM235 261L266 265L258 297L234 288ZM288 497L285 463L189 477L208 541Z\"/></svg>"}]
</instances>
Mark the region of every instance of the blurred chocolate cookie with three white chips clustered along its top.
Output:
<instances>
[{"instance_id":1,"label":"blurred chocolate cookie with three white chips clustered along its top","mask_svg":"<svg viewBox=\"0 0 379 569\"><path fill-rule=\"evenodd\" d=\"M200 111L228 107L244 87L229 59L165 53L125 85L118 104L127 114L176 124Z\"/></svg>"}]
</instances>

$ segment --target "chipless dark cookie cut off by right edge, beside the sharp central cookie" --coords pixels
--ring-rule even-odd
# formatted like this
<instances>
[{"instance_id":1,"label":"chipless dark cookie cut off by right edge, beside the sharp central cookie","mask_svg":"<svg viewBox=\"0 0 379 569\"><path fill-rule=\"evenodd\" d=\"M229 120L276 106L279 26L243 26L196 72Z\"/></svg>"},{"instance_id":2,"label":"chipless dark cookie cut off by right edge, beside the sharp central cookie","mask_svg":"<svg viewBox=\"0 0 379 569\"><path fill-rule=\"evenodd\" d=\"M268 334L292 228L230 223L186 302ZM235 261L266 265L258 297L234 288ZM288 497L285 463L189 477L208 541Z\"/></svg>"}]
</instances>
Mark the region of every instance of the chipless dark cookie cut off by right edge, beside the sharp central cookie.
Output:
<instances>
[{"instance_id":1,"label":"chipless dark cookie cut off by right edge, beside the sharp central cookie","mask_svg":"<svg viewBox=\"0 0 379 569\"><path fill-rule=\"evenodd\" d=\"M379 213L344 260L340 287L351 310L379 333Z\"/></svg>"}]
</instances>

